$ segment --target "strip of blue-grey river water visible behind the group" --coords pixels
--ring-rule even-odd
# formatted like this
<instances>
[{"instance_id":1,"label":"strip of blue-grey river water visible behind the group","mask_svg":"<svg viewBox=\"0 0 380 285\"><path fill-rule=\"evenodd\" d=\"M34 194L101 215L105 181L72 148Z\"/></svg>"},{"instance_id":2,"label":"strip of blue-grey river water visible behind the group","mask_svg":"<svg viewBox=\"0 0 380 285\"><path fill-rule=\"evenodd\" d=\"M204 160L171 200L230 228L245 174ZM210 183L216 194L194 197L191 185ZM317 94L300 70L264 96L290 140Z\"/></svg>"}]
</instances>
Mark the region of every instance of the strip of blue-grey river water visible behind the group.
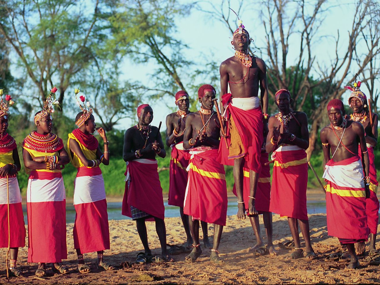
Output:
<instances>
[{"instance_id":1,"label":"strip of blue-grey river water visible behind the group","mask_svg":"<svg viewBox=\"0 0 380 285\"><path fill-rule=\"evenodd\" d=\"M237 213L237 202L236 198L230 199L228 202L227 215L236 215ZM179 208L176 206L168 205L166 201L165 205L165 217L179 217ZM131 219L130 217L123 216L121 214L122 202L108 202L107 203L107 212L109 220L124 220ZM27 224L27 213L26 205L22 206L24 211L24 220ZM325 201L307 201L307 213L316 214L316 213L326 213L326 202ZM75 209L74 205L67 203L66 204L66 222L73 223L75 220Z\"/></svg>"}]
</instances>

